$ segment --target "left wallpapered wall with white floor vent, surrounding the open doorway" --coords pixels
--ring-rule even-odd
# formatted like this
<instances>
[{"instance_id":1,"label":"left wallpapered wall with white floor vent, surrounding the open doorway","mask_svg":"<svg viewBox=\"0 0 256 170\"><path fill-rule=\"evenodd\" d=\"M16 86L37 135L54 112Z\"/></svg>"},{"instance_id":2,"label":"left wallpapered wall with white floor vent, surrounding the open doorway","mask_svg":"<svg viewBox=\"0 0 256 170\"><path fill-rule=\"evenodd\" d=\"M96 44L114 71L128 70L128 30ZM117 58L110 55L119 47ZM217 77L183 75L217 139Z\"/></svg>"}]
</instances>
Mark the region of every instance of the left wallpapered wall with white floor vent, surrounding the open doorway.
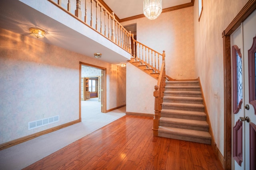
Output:
<instances>
[{"instance_id":1,"label":"left wallpapered wall with white floor vent, surrounding the open doorway","mask_svg":"<svg viewBox=\"0 0 256 170\"><path fill-rule=\"evenodd\" d=\"M79 62L107 68L107 109L126 103L126 69L0 29L0 143L78 119ZM28 130L28 122L60 121Z\"/></svg>"}]
</instances>

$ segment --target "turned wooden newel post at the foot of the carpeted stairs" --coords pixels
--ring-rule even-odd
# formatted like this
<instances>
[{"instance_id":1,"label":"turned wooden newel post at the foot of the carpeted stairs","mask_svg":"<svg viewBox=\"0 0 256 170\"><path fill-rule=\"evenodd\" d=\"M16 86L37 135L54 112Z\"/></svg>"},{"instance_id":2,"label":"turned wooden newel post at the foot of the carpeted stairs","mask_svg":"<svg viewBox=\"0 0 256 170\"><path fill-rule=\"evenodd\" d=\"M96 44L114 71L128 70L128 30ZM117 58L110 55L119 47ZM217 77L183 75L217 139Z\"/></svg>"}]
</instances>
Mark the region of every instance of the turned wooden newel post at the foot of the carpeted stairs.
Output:
<instances>
[{"instance_id":1,"label":"turned wooden newel post at the foot of the carpeted stairs","mask_svg":"<svg viewBox=\"0 0 256 170\"><path fill-rule=\"evenodd\" d=\"M158 127L159 127L159 91L158 86L155 86L154 97L155 97L155 113L153 120L153 135L158 136Z\"/></svg>"}]
</instances>

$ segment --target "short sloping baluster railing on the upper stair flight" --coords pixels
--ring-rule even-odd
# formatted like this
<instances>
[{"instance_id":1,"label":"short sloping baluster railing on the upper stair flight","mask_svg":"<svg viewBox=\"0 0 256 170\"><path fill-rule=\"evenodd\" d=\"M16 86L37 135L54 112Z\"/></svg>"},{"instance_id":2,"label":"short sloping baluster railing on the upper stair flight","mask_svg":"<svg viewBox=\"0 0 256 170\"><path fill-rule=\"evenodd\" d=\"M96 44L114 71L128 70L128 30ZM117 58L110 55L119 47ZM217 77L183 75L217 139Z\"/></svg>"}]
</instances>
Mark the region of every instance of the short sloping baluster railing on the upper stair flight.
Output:
<instances>
[{"instance_id":1,"label":"short sloping baluster railing on the upper stair flight","mask_svg":"<svg viewBox=\"0 0 256 170\"><path fill-rule=\"evenodd\" d=\"M153 69L153 72L159 73L162 65L162 54L151 49L150 47L136 41L132 34L131 45L132 58L135 61L140 61L142 65L146 65L148 69Z\"/></svg>"}]
</instances>

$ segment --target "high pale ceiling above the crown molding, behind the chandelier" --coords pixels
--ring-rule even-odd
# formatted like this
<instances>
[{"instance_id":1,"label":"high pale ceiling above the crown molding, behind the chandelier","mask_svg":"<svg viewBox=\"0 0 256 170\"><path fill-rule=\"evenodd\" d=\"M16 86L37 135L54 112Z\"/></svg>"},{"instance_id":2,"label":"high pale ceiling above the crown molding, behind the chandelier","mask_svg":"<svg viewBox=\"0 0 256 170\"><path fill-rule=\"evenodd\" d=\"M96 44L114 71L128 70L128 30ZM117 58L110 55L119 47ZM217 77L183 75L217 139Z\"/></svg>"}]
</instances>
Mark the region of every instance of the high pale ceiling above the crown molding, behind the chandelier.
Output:
<instances>
[{"instance_id":1,"label":"high pale ceiling above the crown molding, behind the chandelier","mask_svg":"<svg viewBox=\"0 0 256 170\"><path fill-rule=\"evenodd\" d=\"M104 0L119 19L143 14L143 0ZM170 8L191 2L191 0L162 0L162 8Z\"/></svg>"}]
</instances>

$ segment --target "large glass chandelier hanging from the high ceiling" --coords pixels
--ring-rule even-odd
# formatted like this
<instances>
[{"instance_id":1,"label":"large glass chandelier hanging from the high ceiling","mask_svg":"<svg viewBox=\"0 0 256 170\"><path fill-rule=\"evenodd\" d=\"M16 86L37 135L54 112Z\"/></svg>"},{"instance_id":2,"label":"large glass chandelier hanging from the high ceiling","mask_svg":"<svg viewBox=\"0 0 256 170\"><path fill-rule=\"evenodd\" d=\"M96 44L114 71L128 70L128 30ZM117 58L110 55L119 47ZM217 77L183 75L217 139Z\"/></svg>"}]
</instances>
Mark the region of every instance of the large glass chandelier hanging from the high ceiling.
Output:
<instances>
[{"instance_id":1,"label":"large glass chandelier hanging from the high ceiling","mask_svg":"<svg viewBox=\"0 0 256 170\"><path fill-rule=\"evenodd\" d=\"M160 16L162 12L162 0L144 0L143 14L146 18L154 20Z\"/></svg>"}]
</instances>

